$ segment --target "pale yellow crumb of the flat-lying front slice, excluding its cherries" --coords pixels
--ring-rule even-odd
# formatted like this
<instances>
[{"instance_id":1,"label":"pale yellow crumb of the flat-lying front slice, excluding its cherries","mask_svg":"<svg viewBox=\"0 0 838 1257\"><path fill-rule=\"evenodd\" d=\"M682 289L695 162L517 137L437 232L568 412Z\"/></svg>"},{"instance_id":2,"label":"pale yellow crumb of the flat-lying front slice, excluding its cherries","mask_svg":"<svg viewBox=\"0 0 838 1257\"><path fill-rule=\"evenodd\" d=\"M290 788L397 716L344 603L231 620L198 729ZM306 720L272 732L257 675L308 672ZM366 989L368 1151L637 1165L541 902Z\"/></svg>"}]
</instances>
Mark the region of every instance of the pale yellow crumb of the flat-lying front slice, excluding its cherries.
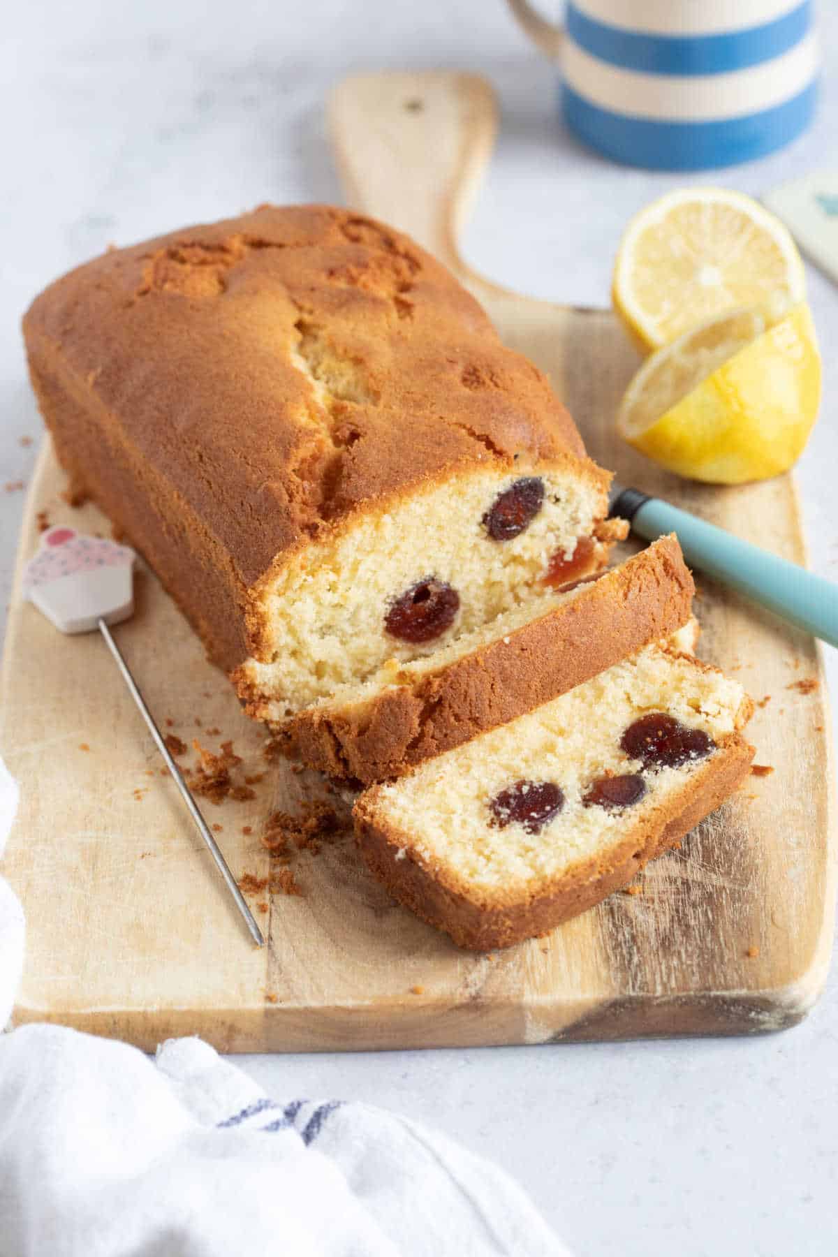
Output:
<instances>
[{"instance_id":1,"label":"pale yellow crumb of the flat-lying front slice, excluding its cherries","mask_svg":"<svg viewBox=\"0 0 838 1257\"><path fill-rule=\"evenodd\" d=\"M379 817L412 836L412 852L442 862L475 887L525 887L607 852L628 823L651 816L705 764L646 773L647 794L632 808L584 807L596 777L639 772L621 750L623 730L648 711L665 710L714 740L736 729L745 693L714 670L657 646L609 667L536 711L422 764L382 788ZM490 801L519 779L552 781L564 807L539 833L489 822ZM631 817L631 822L629 822Z\"/></svg>"}]
</instances>

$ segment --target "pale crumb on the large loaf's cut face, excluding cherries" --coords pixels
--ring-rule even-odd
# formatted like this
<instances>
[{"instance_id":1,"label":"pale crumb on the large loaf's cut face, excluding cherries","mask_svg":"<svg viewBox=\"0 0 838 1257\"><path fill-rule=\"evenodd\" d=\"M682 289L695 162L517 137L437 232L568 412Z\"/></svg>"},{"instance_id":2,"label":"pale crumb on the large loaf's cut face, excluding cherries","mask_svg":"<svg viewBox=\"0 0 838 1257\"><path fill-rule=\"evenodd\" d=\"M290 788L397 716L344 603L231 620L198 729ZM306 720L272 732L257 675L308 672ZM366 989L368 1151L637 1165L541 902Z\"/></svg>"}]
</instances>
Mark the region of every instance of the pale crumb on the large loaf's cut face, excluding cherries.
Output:
<instances>
[{"instance_id":1,"label":"pale crumb on the large loaf's cut face, excluding cherries","mask_svg":"<svg viewBox=\"0 0 838 1257\"><path fill-rule=\"evenodd\" d=\"M398 666L438 652L500 615L513 612L506 628L529 618L531 602L524 615L514 612L534 587L543 596L538 582L549 558L573 553L577 538L592 532L601 502L594 485L568 471L539 471L545 485L539 514L520 535L492 541L482 517L528 474L459 475L392 510L371 512L337 541L291 559L263 597L273 661L251 659L244 666L254 688L275 696L275 718L367 681L388 661ZM387 608L428 576L457 591L457 616L427 644L398 641L384 631Z\"/></svg>"}]
</instances>

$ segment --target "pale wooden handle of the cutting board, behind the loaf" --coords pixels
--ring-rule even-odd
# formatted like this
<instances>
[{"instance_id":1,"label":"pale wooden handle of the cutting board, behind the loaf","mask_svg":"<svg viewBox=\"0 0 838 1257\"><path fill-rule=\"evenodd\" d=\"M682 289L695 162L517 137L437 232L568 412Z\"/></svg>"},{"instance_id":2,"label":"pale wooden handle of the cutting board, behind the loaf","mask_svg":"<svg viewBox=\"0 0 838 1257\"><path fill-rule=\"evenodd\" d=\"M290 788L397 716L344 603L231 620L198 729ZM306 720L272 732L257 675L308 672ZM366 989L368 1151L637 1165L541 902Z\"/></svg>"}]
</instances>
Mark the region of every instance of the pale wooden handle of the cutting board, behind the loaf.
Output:
<instances>
[{"instance_id":1,"label":"pale wooden handle of the cutting board, behind the loaf","mask_svg":"<svg viewBox=\"0 0 838 1257\"><path fill-rule=\"evenodd\" d=\"M332 92L328 123L349 204L476 280L457 236L498 131L486 79L450 70L357 74Z\"/></svg>"}]
</instances>

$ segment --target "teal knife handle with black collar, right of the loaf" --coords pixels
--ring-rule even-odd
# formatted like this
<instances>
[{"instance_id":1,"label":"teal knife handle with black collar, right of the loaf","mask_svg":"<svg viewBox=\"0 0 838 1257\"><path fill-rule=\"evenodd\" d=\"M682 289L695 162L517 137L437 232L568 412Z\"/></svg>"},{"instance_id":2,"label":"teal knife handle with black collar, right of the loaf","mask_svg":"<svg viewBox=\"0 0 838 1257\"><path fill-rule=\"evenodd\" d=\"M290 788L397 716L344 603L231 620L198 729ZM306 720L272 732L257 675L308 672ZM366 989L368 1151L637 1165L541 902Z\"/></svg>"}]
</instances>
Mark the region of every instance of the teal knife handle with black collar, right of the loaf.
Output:
<instances>
[{"instance_id":1,"label":"teal knife handle with black collar, right of the loaf","mask_svg":"<svg viewBox=\"0 0 838 1257\"><path fill-rule=\"evenodd\" d=\"M632 532L646 541L677 533L691 567L838 646L838 585L638 489L612 484L608 507L612 515L627 519Z\"/></svg>"}]
</instances>

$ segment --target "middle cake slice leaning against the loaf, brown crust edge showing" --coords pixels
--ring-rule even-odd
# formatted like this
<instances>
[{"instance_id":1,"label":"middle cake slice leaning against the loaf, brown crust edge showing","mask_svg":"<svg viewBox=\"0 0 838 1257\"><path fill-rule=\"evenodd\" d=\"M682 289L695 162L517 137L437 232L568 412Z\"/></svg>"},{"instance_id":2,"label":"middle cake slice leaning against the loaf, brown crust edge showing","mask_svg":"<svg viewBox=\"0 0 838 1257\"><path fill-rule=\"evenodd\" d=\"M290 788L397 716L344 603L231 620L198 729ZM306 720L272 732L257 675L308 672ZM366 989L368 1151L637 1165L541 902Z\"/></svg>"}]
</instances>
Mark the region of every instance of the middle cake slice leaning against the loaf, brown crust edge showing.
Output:
<instances>
[{"instance_id":1,"label":"middle cake slice leaning against the loaf, brown crust edge showing","mask_svg":"<svg viewBox=\"0 0 838 1257\"><path fill-rule=\"evenodd\" d=\"M530 598L422 659L392 659L288 719L256 674L248 709L310 768L363 784L400 777L680 630L694 592L677 539L665 537L598 579Z\"/></svg>"}]
</instances>

